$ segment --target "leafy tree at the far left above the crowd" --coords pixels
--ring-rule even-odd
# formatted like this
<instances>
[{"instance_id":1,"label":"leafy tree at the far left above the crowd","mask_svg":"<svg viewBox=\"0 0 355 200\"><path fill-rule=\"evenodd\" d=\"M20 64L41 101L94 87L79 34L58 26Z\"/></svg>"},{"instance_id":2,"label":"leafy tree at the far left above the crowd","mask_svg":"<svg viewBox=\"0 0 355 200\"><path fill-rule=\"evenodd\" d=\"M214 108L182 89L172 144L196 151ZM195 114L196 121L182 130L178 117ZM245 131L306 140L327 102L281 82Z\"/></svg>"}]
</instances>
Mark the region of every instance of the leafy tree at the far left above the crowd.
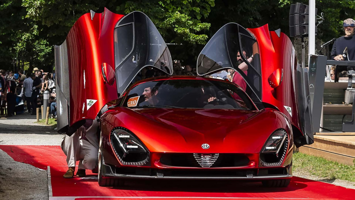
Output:
<instances>
[{"instance_id":1,"label":"leafy tree at the far left above the crowd","mask_svg":"<svg viewBox=\"0 0 355 200\"><path fill-rule=\"evenodd\" d=\"M21 0L8 0L0 5L0 52L1 62L4 69L18 69L15 63L30 63L30 69L33 64L40 66L51 52L52 47L45 38L39 35L38 26L32 19L25 18L27 11L22 7ZM52 59L53 60L53 59Z\"/></svg>"}]
</instances>

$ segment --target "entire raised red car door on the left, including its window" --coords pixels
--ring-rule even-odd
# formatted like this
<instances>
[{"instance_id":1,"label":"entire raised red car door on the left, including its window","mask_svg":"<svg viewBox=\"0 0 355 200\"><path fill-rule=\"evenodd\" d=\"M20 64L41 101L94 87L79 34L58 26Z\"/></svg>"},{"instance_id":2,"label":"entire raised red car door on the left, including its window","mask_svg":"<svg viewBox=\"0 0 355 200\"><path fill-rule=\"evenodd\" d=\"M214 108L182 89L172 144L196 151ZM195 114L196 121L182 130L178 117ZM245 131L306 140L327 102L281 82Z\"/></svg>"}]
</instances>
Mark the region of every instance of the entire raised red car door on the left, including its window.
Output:
<instances>
[{"instance_id":1,"label":"entire raised red car door on the left, including its window","mask_svg":"<svg viewBox=\"0 0 355 200\"><path fill-rule=\"evenodd\" d=\"M118 99L142 68L173 73L164 40L142 12L91 11L74 23L54 52L57 127L67 135Z\"/></svg>"}]
</instances>

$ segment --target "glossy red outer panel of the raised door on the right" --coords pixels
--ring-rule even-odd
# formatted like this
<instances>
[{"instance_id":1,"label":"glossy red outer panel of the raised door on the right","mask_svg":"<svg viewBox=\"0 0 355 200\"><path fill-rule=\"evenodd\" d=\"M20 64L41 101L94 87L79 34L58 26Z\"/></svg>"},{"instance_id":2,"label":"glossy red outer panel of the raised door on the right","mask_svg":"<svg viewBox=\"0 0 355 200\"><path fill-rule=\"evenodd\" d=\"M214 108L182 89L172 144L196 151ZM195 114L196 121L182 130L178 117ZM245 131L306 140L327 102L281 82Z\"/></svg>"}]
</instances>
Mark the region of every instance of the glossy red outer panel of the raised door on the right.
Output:
<instances>
[{"instance_id":1,"label":"glossy red outer panel of the raised door on the right","mask_svg":"<svg viewBox=\"0 0 355 200\"><path fill-rule=\"evenodd\" d=\"M278 36L275 31L269 31L267 24L248 30L256 37L259 44L263 76L262 101L278 108L290 119L292 125L301 127L293 83L297 60L291 40L284 33ZM280 86L274 89L270 87L267 78L278 69L281 69L283 74L279 78L281 79ZM291 107L292 115L284 106Z\"/></svg>"}]
</instances>

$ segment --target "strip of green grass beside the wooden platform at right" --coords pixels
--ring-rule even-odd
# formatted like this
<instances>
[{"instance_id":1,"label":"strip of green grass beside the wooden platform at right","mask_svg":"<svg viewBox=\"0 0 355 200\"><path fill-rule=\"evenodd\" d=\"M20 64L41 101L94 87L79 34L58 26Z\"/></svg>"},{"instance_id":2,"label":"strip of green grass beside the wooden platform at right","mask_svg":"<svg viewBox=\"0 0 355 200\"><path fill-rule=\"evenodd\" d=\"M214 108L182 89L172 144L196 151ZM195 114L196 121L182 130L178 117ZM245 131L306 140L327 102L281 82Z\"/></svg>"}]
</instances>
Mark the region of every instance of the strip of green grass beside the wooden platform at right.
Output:
<instances>
[{"instance_id":1,"label":"strip of green grass beside the wooden platform at right","mask_svg":"<svg viewBox=\"0 0 355 200\"><path fill-rule=\"evenodd\" d=\"M339 164L300 152L293 154L293 170L295 172L305 171L322 178L355 182L355 166Z\"/></svg>"}]
</instances>

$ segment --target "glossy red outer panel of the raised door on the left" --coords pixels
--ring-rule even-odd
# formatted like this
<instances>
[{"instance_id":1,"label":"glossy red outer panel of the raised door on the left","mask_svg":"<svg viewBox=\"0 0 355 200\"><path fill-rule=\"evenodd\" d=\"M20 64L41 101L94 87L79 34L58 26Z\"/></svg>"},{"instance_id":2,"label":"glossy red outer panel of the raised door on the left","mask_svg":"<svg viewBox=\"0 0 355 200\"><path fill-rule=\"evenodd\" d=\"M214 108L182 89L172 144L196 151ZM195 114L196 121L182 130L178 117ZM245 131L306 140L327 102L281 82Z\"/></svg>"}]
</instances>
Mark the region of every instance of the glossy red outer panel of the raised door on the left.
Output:
<instances>
[{"instance_id":1,"label":"glossy red outer panel of the raised door on the left","mask_svg":"<svg viewBox=\"0 0 355 200\"><path fill-rule=\"evenodd\" d=\"M107 9L103 13L87 13L74 23L65 44L61 45L66 48L62 48L60 55L56 54L56 66L67 65L68 71L57 74L62 73L69 77L59 84L57 93L66 93L65 87L69 85L68 94L63 94L69 105L69 119L65 116L68 122L63 122L63 125L59 122L58 130L66 125L71 127L84 119L95 119L107 102L117 99L116 84L104 82L101 66L103 63L115 66L113 33L116 23L122 17L124 16ZM60 46L55 48L58 47ZM66 56L67 59L63 59ZM58 62L60 58L61 62ZM93 100L93 104L89 104L89 100ZM67 105L58 105L60 106Z\"/></svg>"}]
</instances>

